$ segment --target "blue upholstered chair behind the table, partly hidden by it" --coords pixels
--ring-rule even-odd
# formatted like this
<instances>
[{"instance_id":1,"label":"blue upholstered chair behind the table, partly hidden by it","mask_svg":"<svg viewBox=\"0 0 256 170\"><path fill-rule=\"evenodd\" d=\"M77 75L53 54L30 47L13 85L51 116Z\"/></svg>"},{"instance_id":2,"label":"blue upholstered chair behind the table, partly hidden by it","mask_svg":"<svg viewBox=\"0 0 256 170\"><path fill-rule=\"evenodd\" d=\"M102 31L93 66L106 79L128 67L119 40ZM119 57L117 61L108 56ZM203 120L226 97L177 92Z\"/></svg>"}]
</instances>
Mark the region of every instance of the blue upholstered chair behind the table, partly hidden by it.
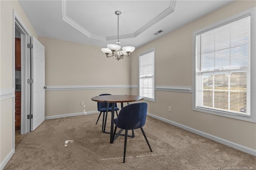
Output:
<instances>
[{"instance_id":1,"label":"blue upholstered chair behind the table, partly hidden by it","mask_svg":"<svg viewBox=\"0 0 256 170\"><path fill-rule=\"evenodd\" d=\"M99 96L104 96L104 95L110 95L110 94L101 94ZM102 119L102 132L103 132L103 130L105 131L107 117L108 117L108 113L106 113L106 111L107 111L107 103L97 102L97 106L98 106L98 111L100 112L100 115L103 112L103 119ZM118 110L119 110L119 108L117 107L117 104L115 103L116 116L118 116L118 113L117 113ZM109 103L109 105L108 105L108 112L111 112L111 111L112 111L112 103ZM105 113L106 113L106 117L105 117ZM99 117L97 119L96 125L97 125L97 123L98 123L98 121L100 119L100 115L99 115ZM104 123L104 120L105 120L105 123ZM103 127L104 127L104 129L103 129Z\"/></svg>"}]
</instances>

